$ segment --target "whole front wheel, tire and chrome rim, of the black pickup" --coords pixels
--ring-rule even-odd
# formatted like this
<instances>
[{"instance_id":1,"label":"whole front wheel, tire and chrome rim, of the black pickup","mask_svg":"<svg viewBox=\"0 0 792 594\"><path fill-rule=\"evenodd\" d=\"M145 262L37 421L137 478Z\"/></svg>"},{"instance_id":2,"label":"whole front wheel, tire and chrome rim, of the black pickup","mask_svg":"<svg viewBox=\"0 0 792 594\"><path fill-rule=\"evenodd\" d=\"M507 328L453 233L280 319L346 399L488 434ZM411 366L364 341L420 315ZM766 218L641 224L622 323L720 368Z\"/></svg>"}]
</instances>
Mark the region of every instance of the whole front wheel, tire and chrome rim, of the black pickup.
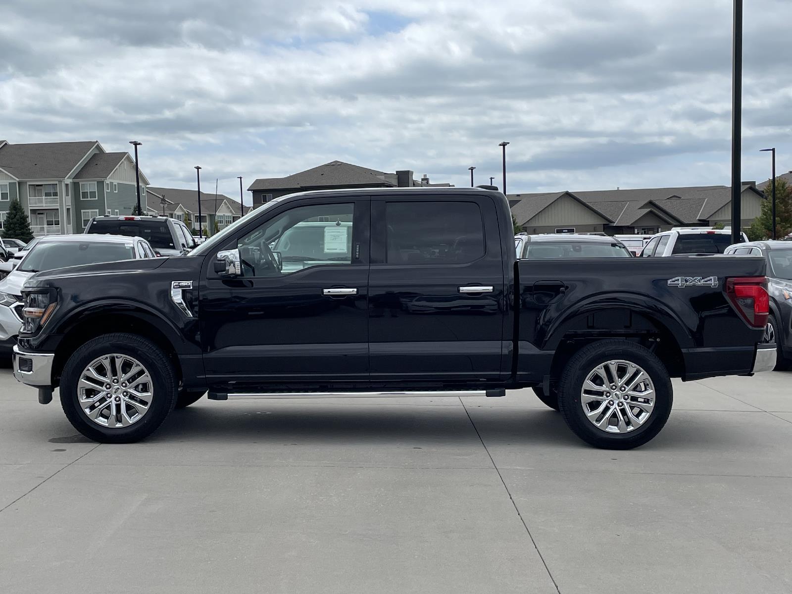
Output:
<instances>
[{"instance_id":1,"label":"whole front wheel, tire and chrome rim, of the black pickup","mask_svg":"<svg viewBox=\"0 0 792 594\"><path fill-rule=\"evenodd\" d=\"M173 365L136 334L93 338L69 357L60 382L63 412L82 435L128 444L153 433L176 405Z\"/></svg>"}]
</instances>

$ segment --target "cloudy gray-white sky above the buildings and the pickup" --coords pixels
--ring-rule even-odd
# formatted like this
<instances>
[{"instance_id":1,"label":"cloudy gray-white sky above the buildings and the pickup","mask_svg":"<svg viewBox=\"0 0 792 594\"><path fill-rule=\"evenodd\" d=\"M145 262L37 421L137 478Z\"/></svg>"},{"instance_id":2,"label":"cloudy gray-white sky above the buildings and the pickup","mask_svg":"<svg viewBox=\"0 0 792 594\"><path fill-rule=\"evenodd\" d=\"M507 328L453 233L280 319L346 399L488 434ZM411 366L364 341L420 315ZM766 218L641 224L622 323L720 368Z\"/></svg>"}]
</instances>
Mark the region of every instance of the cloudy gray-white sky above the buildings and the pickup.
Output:
<instances>
[{"instance_id":1,"label":"cloudy gray-white sky above the buildings and the pickup","mask_svg":"<svg viewBox=\"0 0 792 594\"><path fill-rule=\"evenodd\" d=\"M743 179L792 169L792 2L744 16ZM0 139L139 139L238 196L333 159L508 191L729 183L732 0L3 0ZM246 200L249 193L246 192Z\"/></svg>"}]
</instances>

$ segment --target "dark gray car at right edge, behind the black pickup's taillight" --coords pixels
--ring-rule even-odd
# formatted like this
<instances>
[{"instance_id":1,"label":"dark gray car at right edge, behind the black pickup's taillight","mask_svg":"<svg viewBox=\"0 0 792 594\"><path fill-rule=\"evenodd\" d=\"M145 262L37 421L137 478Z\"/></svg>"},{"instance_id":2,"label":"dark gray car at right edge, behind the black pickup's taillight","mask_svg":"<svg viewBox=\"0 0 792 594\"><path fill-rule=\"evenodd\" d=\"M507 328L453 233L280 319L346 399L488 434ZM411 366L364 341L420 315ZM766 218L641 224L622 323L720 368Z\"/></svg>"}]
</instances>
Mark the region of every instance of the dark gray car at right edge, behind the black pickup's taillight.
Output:
<instances>
[{"instance_id":1,"label":"dark gray car at right edge, behind the black pickup's taillight","mask_svg":"<svg viewBox=\"0 0 792 594\"><path fill-rule=\"evenodd\" d=\"M779 346L779 366L792 360L792 242L737 243L725 249L734 256L762 256L767 260L770 318L764 342Z\"/></svg>"}]
</instances>

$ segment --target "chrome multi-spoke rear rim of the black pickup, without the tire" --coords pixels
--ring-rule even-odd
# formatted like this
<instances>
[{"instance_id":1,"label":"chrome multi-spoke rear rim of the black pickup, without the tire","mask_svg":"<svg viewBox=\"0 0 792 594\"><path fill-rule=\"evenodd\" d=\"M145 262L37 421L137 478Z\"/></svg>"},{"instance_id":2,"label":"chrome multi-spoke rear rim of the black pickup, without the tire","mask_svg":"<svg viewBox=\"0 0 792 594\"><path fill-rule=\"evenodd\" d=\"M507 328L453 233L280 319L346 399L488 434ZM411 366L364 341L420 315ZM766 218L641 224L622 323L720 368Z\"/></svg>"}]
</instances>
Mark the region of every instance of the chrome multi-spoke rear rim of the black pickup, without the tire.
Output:
<instances>
[{"instance_id":1,"label":"chrome multi-spoke rear rim of the black pickup, without the tire","mask_svg":"<svg viewBox=\"0 0 792 594\"><path fill-rule=\"evenodd\" d=\"M641 367L626 360L600 364L581 388L583 412L596 428L626 433L643 425L654 409L654 385Z\"/></svg>"}]
</instances>

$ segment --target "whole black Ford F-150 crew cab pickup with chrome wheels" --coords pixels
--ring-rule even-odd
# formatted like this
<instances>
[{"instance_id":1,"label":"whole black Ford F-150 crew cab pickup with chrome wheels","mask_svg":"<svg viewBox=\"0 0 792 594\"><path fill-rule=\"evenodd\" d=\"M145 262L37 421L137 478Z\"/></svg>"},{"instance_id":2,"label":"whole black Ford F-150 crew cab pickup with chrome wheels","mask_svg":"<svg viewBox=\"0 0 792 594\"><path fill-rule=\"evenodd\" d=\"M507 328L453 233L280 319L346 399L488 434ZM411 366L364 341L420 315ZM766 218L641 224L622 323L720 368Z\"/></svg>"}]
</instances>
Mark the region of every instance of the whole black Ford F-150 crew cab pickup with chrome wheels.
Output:
<instances>
[{"instance_id":1,"label":"whole black Ford F-150 crew cab pickup with chrome wheels","mask_svg":"<svg viewBox=\"0 0 792 594\"><path fill-rule=\"evenodd\" d=\"M102 442L208 398L535 387L597 447L651 440L671 378L775 366L760 257L516 261L479 188L272 200L185 257L61 268L22 291L14 374Z\"/></svg>"}]
</instances>

